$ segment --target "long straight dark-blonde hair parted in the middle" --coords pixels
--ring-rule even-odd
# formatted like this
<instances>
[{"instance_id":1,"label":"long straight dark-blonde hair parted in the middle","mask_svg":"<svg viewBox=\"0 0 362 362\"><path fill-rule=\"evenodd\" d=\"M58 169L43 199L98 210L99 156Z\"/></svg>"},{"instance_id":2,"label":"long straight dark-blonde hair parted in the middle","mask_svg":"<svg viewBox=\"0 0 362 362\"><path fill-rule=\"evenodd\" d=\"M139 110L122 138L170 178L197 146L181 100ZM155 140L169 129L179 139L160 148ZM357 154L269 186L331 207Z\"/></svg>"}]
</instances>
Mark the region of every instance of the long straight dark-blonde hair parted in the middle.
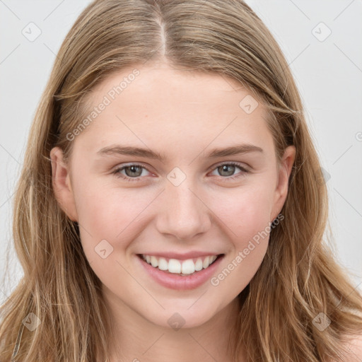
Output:
<instances>
[{"instance_id":1,"label":"long straight dark-blonde hair parted in the middle","mask_svg":"<svg viewBox=\"0 0 362 362\"><path fill-rule=\"evenodd\" d=\"M16 186L13 240L24 275L1 306L0 360L107 356L101 282L83 253L78 224L54 197L49 151L60 146L69 158L66 134L106 76L163 59L235 79L267 106L277 159L296 146L284 220L238 296L233 361L243 346L250 361L343 361L344 341L361 333L362 298L323 237L327 188L296 83L279 45L241 0L96 0L78 17L37 107ZM29 313L40 321L34 330L24 328ZM315 318L325 316L330 324L322 330Z\"/></svg>"}]
</instances>

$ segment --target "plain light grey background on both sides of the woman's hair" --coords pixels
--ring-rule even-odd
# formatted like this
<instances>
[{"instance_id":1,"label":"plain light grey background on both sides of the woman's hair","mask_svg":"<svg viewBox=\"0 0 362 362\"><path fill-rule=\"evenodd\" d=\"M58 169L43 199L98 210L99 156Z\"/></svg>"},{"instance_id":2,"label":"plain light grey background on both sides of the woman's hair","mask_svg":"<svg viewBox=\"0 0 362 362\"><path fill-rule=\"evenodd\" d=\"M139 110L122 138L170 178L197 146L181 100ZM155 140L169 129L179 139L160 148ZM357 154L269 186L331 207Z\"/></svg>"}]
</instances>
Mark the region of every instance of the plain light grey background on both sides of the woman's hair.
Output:
<instances>
[{"instance_id":1,"label":"plain light grey background on both sides of the woman's hair","mask_svg":"<svg viewBox=\"0 0 362 362\"><path fill-rule=\"evenodd\" d=\"M11 244L11 206L30 123L57 51L89 3L0 0L0 301L23 274ZM332 248L362 290L362 1L247 4L276 37L296 78L322 167L330 176ZM30 22L41 30L32 42L22 33L36 34ZM332 33L325 38L328 29ZM9 277L3 279L7 251Z\"/></svg>"}]
</instances>

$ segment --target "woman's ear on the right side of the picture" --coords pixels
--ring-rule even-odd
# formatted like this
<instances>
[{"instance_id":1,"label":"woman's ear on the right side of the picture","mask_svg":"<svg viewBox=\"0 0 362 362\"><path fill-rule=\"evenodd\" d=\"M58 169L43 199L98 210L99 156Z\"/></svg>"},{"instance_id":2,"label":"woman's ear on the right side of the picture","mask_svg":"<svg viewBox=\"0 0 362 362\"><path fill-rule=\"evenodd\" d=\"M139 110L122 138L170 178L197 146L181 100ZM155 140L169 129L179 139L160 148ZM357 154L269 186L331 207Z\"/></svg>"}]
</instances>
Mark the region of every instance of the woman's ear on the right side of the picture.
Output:
<instances>
[{"instance_id":1,"label":"woman's ear on the right side of the picture","mask_svg":"<svg viewBox=\"0 0 362 362\"><path fill-rule=\"evenodd\" d=\"M295 158L296 147L288 146L284 151L284 156L281 158L281 165L278 169L278 182L274 192L274 204L270 214L270 221L273 221L279 215L281 209L283 209L288 194L289 176L291 175Z\"/></svg>"}]
</instances>

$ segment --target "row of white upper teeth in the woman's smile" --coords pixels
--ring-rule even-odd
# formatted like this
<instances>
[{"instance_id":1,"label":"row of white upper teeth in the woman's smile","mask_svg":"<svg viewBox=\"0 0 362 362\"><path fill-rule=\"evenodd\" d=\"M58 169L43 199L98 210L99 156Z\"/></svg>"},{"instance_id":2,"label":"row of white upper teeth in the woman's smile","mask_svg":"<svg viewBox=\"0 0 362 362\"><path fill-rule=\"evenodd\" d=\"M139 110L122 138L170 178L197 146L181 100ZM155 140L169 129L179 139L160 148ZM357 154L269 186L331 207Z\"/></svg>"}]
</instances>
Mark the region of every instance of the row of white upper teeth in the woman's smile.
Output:
<instances>
[{"instance_id":1,"label":"row of white upper teeth in the woman's smile","mask_svg":"<svg viewBox=\"0 0 362 362\"><path fill-rule=\"evenodd\" d=\"M181 274L181 275L189 275L193 274L195 271L200 271L202 269L206 269L209 267L211 263L216 260L216 255L209 255L204 257L202 260L201 257L196 259L194 262L193 259L187 260L177 260L177 259L170 259L167 261L164 257L155 257L153 255L143 255L142 258L146 260L148 264L151 264L152 267L164 271L170 271L170 273Z\"/></svg>"}]
</instances>

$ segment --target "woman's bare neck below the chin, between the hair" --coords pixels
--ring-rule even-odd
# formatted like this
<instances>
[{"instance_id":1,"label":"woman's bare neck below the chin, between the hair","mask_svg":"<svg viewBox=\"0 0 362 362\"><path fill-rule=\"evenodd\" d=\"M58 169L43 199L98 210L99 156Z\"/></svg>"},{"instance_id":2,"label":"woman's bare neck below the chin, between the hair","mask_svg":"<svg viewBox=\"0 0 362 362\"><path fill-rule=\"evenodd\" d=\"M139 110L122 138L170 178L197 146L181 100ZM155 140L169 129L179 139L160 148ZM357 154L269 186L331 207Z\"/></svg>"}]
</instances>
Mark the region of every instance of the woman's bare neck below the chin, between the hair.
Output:
<instances>
[{"instance_id":1,"label":"woman's bare neck below the chin, between the hair","mask_svg":"<svg viewBox=\"0 0 362 362\"><path fill-rule=\"evenodd\" d=\"M180 329L155 325L119 299L117 304L105 300L112 320L107 362L232 361L229 339L235 333L238 298L203 325Z\"/></svg>"}]
</instances>

